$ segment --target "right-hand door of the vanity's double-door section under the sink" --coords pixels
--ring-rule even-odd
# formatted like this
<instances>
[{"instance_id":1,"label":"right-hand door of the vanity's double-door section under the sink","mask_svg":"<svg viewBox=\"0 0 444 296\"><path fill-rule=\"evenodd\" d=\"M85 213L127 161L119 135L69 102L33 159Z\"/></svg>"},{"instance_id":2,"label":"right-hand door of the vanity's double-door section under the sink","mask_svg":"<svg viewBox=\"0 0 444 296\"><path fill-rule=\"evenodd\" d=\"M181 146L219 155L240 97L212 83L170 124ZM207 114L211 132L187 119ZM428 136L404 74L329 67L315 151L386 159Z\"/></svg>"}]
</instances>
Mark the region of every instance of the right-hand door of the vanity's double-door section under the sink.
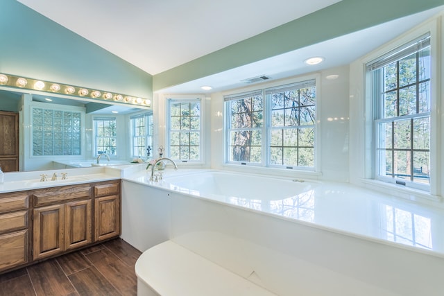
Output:
<instances>
[{"instance_id":1,"label":"right-hand door of the vanity's double-door section under the sink","mask_svg":"<svg viewBox=\"0 0 444 296\"><path fill-rule=\"evenodd\" d=\"M66 250L92 243L91 204L91 200L80 200L65 205Z\"/></svg>"}]
</instances>

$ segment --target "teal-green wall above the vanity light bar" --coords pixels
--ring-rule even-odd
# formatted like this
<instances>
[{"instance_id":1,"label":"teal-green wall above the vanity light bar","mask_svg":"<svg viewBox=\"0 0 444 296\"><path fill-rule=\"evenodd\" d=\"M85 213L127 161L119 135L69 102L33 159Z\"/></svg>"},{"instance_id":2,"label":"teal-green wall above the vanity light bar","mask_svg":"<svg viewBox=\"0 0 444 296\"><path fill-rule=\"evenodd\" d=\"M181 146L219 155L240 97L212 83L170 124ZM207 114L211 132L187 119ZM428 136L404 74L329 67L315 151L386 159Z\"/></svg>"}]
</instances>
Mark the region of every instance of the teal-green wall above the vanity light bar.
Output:
<instances>
[{"instance_id":1,"label":"teal-green wall above the vanity light bar","mask_svg":"<svg viewBox=\"0 0 444 296\"><path fill-rule=\"evenodd\" d=\"M0 0L0 28L0 72L153 97L153 76L16 0Z\"/></svg>"}]
</instances>

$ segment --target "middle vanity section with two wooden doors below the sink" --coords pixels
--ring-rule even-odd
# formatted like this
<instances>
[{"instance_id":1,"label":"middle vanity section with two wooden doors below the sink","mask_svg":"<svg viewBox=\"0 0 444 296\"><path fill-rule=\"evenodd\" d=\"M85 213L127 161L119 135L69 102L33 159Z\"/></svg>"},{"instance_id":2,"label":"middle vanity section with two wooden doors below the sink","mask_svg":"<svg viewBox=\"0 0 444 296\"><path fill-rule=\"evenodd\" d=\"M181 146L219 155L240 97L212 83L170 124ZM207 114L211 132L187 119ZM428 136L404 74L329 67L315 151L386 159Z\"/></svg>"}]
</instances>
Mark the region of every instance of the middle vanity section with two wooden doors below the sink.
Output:
<instances>
[{"instance_id":1,"label":"middle vanity section with two wooden doors below the sink","mask_svg":"<svg viewBox=\"0 0 444 296\"><path fill-rule=\"evenodd\" d=\"M91 188L87 184L33 192L33 259L92 243Z\"/></svg>"}]
</instances>

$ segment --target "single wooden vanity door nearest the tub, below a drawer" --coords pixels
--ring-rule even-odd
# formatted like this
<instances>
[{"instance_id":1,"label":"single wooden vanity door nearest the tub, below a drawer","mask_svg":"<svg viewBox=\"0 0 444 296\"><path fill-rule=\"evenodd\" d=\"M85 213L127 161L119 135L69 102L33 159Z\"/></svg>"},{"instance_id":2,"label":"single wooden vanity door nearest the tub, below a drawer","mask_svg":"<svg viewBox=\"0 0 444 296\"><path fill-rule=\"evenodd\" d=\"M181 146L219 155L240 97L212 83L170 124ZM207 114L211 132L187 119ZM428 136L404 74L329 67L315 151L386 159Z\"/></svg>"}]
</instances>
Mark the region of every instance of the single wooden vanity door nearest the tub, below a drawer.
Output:
<instances>
[{"instance_id":1,"label":"single wooden vanity door nearest the tub, below a drawer","mask_svg":"<svg viewBox=\"0 0 444 296\"><path fill-rule=\"evenodd\" d=\"M120 235L119 195L94 199L94 241Z\"/></svg>"}]
</instances>

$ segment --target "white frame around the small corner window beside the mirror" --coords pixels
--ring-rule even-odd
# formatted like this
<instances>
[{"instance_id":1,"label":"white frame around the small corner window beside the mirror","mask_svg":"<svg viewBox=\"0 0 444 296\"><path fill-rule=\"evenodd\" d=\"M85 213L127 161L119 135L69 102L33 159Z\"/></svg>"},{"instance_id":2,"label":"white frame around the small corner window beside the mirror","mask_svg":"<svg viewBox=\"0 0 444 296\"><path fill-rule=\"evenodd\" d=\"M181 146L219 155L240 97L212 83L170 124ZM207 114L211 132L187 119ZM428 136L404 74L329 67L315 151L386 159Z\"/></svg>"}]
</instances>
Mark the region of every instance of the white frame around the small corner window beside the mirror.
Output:
<instances>
[{"instance_id":1,"label":"white frame around the small corner window beside the mirror","mask_svg":"<svg viewBox=\"0 0 444 296\"><path fill-rule=\"evenodd\" d=\"M165 96L165 125L166 125L166 133L165 133L165 150L164 155L167 157L171 157L171 103L172 102L180 102L180 103L193 103L199 101L200 103L200 122L199 122L199 159L173 159L176 163L187 166L194 164L205 164L205 97L202 95L170 95ZM156 155L156 151L154 153Z\"/></svg>"}]
</instances>

